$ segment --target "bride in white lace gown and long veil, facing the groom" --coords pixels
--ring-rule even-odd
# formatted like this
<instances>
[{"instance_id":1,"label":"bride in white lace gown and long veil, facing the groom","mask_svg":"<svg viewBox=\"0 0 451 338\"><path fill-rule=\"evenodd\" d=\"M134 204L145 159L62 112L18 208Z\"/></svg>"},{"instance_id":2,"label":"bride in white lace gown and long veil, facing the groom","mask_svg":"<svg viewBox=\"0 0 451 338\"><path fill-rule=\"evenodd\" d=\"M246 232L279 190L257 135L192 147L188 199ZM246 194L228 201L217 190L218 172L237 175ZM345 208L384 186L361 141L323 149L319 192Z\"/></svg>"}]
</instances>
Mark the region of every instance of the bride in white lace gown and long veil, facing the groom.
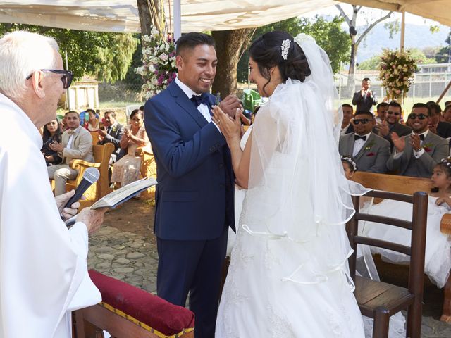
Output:
<instances>
[{"instance_id":1,"label":"bride in white lace gown and long veil, facing the groom","mask_svg":"<svg viewBox=\"0 0 451 338\"><path fill-rule=\"evenodd\" d=\"M214 106L237 183L247 189L216 337L364 337L345 222L354 213L338 154L342 116L326 53L312 37L269 32L249 49L262 106L244 151Z\"/></svg>"}]
</instances>

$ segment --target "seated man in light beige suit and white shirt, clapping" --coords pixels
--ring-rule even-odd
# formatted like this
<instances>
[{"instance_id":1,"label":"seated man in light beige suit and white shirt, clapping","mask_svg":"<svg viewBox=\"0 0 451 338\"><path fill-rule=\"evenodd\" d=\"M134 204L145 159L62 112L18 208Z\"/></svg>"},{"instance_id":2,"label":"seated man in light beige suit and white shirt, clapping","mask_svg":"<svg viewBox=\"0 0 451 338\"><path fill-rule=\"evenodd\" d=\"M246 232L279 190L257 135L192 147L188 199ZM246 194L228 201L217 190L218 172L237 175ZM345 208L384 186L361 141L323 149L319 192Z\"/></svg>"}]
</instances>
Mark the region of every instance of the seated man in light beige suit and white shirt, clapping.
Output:
<instances>
[{"instance_id":1,"label":"seated man in light beige suit and white shirt, clapping","mask_svg":"<svg viewBox=\"0 0 451 338\"><path fill-rule=\"evenodd\" d=\"M78 170L70 168L70 162L74 159L81 159L93 162L92 157L92 136L80 125L80 115L76 111L68 111L65 115L68 130L63 132L61 143L49 144L53 151L58 152L63 160L61 164L47 167L50 179L55 180L55 196L66 192L66 181L73 180L78 175Z\"/></svg>"}]
</instances>

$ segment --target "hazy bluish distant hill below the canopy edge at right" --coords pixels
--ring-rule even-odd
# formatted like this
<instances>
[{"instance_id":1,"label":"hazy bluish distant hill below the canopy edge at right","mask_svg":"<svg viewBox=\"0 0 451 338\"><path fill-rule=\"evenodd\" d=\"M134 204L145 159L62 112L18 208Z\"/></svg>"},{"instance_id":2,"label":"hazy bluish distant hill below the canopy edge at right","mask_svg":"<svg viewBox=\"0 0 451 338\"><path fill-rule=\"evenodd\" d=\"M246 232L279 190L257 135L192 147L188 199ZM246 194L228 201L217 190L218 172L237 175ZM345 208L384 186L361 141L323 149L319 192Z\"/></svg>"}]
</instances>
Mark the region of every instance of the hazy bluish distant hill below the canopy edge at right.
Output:
<instances>
[{"instance_id":1,"label":"hazy bluish distant hill below the canopy edge at right","mask_svg":"<svg viewBox=\"0 0 451 338\"><path fill-rule=\"evenodd\" d=\"M400 48L401 32L393 35L393 39L390 39L388 30L383 27L384 23L385 21L376 25L359 45L357 62L365 61L371 56L380 54L383 48ZM347 29L347 25L343 27ZM363 27L357 27L357 32L362 30ZM450 27L444 25L440 25L438 32L431 33L428 25L407 24L404 46L407 49L412 47L423 49L424 47L446 46L445 39L449 32Z\"/></svg>"}]
</instances>

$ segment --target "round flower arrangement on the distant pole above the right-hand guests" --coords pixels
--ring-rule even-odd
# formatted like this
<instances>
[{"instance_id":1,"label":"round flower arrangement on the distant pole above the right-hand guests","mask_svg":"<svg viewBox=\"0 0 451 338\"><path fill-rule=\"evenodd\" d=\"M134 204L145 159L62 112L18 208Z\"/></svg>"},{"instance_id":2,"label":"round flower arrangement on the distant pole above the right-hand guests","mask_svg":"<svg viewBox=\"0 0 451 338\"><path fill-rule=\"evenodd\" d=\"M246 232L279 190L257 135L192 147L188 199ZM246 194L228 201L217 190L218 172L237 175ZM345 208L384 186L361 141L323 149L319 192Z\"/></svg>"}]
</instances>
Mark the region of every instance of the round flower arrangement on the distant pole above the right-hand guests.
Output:
<instances>
[{"instance_id":1,"label":"round flower arrangement on the distant pole above the right-hand guests","mask_svg":"<svg viewBox=\"0 0 451 338\"><path fill-rule=\"evenodd\" d=\"M384 49L379 63L379 80L385 87L387 98L400 101L407 96L413 77L416 62L409 52L402 53L398 50Z\"/></svg>"}]
</instances>

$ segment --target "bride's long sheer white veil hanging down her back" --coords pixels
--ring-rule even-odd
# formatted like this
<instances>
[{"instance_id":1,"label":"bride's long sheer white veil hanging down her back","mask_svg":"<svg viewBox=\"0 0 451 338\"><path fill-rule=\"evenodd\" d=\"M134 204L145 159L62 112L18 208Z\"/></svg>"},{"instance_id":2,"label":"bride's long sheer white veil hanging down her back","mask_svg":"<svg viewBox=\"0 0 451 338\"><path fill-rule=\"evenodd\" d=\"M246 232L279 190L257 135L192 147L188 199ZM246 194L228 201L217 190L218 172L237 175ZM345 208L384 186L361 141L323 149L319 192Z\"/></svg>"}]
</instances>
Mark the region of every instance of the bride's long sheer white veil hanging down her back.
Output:
<instances>
[{"instance_id":1,"label":"bride's long sheer white veil hanging down her back","mask_svg":"<svg viewBox=\"0 0 451 338\"><path fill-rule=\"evenodd\" d=\"M296 282L321 282L329 272L346 270L351 253L345 223L354 214L351 192L364 194L345 179L338 137L341 110L327 54L308 35L295 42L307 57L311 75L304 82L279 84L261 107L252 131L246 223L250 234L286 238L306 249L299 264L283 277ZM261 199L259 196L266 196ZM311 250L321 246L321 255ZM307 249L309 248L309 249ZM296 277L310 267L313 279ZM314 267L314 268L313 268Z\"/></svg>"}]
</instances>

